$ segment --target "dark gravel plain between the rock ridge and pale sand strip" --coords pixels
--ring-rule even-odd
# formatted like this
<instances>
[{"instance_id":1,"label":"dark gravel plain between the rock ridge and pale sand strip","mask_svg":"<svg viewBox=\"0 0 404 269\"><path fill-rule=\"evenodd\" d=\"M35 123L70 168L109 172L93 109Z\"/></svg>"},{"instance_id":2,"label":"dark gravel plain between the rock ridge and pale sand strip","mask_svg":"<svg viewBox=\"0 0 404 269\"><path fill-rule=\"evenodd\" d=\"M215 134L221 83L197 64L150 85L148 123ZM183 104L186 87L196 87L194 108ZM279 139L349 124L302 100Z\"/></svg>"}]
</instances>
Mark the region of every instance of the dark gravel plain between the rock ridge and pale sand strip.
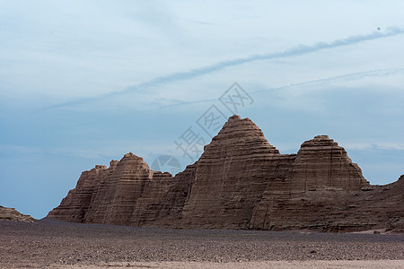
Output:
<instances>
[{"instance_id":1,"label":"dark gravel plain between the rock ridge and pale sand strip","mask_svg":"<svg viewBox=\"0 0 404 269\"><path fill-rule=\"evenodd\" d=\"M404 260L404 235L165 230L49 220L0 221L2 268L307 260ZM394 263L404 268L399 261Z\"/></svg>"}]
</instances>

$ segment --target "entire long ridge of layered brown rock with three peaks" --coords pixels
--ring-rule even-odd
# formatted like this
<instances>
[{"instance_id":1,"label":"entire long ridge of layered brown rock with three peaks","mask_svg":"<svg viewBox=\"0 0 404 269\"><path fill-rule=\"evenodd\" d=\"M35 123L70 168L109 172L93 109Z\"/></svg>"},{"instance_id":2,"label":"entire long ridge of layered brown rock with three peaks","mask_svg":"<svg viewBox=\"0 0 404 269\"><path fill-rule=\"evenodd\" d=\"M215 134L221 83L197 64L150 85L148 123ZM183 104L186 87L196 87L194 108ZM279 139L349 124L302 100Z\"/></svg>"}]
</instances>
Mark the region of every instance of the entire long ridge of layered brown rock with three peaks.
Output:
<instances>
[{"instance_id":1,"label":"entire long ridge of layered brown rock with three peaks","mask_svg":"<svg viewBox=\"0 0 404 269\"><path fill-rule=\"evenodd\" d=\"M403 177L370 186L327 135L280 154L249 118L230 117L172 177L127 153L84 171L48 218L171 228L404 230Z\"/></svg>"}]
</instances>

